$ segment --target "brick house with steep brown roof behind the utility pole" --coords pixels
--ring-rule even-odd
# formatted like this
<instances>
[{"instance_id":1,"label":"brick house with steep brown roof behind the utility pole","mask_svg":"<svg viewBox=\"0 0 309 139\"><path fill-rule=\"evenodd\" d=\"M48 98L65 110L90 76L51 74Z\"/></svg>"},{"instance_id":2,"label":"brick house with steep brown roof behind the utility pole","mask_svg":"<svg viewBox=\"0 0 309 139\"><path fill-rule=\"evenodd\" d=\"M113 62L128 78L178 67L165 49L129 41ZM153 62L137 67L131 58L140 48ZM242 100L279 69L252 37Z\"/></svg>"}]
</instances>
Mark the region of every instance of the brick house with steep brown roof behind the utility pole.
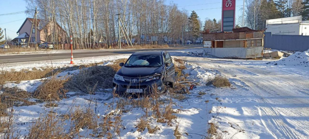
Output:
<instances>
[{"instance_id":1,"label":"brick house with steep brown roof behind the utility pole","mask_svg":"<svg viewBox=\"0 0 309 139\"><path fill-rule=\"evenodd\" d=\"M32 23L33 28L32 27ZM66 31L56 22L47 22L43 19L37 19L36 22L36 40L38 43L49 42L49 43L64 43L66 42ZM30 32L32 35L30 36ZM25 39L25 43L28 42L30 38L30 43L35 42L35 19L26 18L19 30L18 37L12 41L16 43L22 42L21 39Z\"/></svg>"}]
</instances>

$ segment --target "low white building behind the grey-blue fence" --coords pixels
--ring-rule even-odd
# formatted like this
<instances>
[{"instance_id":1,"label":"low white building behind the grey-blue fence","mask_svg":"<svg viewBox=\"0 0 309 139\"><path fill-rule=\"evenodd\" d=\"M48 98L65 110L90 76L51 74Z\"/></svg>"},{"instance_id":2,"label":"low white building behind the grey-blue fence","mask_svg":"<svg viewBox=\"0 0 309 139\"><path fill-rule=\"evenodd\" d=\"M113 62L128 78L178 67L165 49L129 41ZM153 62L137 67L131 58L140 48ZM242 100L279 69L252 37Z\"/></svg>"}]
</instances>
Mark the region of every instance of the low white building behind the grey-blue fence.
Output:
<instances>
[{"instance_id":1,"label":"low white building behind the grey-blue fence","mask_svg":"<svg viewBox=\"0 0 309 139\"><path fill-rule=\"evenodd\" d=\"M272 34L309 36L309 20L302 21L302 16L269 19L266 28Z\"/></svg>"}]
</instances>

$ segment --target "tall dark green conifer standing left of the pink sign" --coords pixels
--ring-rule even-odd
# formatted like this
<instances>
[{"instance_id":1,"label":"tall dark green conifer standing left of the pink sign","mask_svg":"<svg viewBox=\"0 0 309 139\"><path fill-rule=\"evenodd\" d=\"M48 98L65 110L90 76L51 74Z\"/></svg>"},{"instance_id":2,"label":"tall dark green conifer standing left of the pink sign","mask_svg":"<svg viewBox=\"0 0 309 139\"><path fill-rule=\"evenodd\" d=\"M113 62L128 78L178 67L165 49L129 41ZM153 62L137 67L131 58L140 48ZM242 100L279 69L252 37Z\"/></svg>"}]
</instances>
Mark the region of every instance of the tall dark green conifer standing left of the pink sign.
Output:
<instances>
[{"instance_id":1,"label":"tall dark green conifer standing left of the pink sign","mask_svg":"<svg viewBox=\"0 0 309 139\"><path fill-rule=\"evenodd\" d=\"M200 36L200 23L198 21L197 13L192 11L188 19L191 28L191 34L196 39L198 36Z\"/></svg>"}]
</instances>

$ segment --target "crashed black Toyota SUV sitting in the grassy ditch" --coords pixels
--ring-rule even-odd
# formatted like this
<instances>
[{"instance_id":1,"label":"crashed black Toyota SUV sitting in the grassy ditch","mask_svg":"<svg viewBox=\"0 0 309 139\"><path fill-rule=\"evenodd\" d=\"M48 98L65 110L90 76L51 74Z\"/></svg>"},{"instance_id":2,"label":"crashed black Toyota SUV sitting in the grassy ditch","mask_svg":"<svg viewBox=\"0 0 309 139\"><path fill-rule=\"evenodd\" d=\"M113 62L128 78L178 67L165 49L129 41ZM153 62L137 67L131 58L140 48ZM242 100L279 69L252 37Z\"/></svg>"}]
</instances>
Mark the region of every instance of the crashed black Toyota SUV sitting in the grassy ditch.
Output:
<instances>
[{"instance_id":1,"label":"crashed black Toyota SUV sitting in the grassy ditch","mask_svg":"<svg viewBox=\"0 0 309 139\"><path fill-rule=\"evenodd\" d=\"M163 92L165 85L173 87L175 66L166 51L140 51L133 53L125 63L120 63L113 80L118 94L149 94L156 87Z\"/></svg>"}]
</instances>

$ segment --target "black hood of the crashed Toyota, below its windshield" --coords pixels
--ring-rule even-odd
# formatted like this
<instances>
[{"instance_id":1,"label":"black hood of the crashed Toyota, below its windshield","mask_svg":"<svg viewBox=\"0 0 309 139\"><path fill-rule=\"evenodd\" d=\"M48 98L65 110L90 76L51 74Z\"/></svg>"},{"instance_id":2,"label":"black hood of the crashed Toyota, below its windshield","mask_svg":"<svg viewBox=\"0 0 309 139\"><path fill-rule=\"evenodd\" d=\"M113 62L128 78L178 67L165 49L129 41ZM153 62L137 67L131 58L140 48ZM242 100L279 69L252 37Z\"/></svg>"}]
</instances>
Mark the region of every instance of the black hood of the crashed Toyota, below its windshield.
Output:
<instances>
[{"instance_id":1,"label":"black hood of the crashed Toyota, below its windshield","mask_svg":"<svg viewBox=\"0 0 309 139\"><path fill-rule=\"evenodd\" d=\"M138 78L138 77L145 77L145 76L151 76L154 74L161 74L163 70L163 66L160 67L143 67L143 68L128 68L128 67L122 67L117 74L125 77L131 77L131 78Z\"/></svg>"}]
</instances>

